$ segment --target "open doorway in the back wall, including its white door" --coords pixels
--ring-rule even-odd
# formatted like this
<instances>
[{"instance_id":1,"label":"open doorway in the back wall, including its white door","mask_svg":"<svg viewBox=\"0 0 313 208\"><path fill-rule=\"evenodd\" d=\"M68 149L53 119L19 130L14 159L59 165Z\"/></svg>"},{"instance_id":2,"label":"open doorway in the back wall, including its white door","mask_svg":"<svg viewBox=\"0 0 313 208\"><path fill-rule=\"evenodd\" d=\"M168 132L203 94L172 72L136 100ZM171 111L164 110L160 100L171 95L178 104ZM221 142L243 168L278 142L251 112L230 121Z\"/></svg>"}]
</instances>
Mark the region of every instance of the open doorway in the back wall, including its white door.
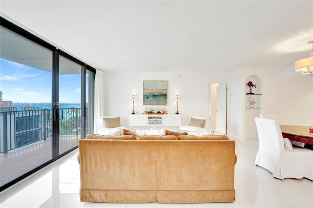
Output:
<instances>
[{"instance_id":1,"label":"open doorway in the back wall, including its white door","mask_svg":"<svg viewBox=\"0 0 313 208\"><path fill-rule=\"evenodd\" d=\"M211 129L227 134L227 84L211 83Z\"/></svg>"}]
</instances>

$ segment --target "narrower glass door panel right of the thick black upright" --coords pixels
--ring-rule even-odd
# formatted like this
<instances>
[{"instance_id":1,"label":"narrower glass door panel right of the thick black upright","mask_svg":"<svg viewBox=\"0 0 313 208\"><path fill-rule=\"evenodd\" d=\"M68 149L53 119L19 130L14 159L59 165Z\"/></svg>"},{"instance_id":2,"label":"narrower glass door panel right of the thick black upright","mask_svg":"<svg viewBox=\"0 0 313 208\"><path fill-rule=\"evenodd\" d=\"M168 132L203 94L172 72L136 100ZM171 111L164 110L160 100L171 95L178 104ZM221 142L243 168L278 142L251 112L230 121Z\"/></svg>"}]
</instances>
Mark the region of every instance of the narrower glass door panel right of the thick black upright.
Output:
<instances>
[{"instance_id":1,"label":"narrower glass door panel right of the thick black upright","mask_svg":"<svg viewBox=\"0 0 313 208\"><path fill-rule=\"evenodd\" d=\"M78 145L81 135L81 72L84 67L60 55L59 154Z\"/></svg>"}]
</instances>

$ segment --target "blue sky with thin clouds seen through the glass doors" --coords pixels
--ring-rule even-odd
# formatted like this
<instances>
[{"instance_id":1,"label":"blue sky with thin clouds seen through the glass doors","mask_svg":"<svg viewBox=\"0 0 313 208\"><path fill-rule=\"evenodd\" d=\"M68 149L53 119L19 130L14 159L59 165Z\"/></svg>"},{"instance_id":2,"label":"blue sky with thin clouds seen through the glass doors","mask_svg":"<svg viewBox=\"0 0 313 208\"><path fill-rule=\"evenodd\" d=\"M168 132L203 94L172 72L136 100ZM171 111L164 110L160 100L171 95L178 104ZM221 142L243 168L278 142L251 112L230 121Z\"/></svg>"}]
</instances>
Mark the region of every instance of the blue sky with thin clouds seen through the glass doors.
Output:
<instances>
[{"instance_id":1,"label":"blue sky with thin clouds seen through the glass doors","mask_svg":"<svg viewBox=\"0 0 313 208\"><path fill-rule=\"evenodd\" d=\"M0 90L3 101L51 103L51 79L51 72L0 59ZM59 102L79 104L81 75L60 75L59 82Z\"/></svg>"}]
</instances>

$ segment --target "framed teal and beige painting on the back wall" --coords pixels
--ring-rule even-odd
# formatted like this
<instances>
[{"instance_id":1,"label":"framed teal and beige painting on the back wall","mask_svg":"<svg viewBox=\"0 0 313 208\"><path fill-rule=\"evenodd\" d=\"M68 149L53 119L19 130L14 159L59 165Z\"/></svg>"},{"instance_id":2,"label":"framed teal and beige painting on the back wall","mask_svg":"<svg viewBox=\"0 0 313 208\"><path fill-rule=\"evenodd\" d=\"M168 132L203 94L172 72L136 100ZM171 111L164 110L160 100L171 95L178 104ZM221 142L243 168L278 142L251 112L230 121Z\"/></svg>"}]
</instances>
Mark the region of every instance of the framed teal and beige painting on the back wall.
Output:
<instances>
[{"instance_id":1,"label":"framed teal and beige painting on the back wall","mask_svg":"<svg viewBox=\"0 0 313 208\"><path fill-rule=\"evenodd\" d=\"M167 105L167 81L143 81L143 105Z\"/></svg>"}]
</instances>

